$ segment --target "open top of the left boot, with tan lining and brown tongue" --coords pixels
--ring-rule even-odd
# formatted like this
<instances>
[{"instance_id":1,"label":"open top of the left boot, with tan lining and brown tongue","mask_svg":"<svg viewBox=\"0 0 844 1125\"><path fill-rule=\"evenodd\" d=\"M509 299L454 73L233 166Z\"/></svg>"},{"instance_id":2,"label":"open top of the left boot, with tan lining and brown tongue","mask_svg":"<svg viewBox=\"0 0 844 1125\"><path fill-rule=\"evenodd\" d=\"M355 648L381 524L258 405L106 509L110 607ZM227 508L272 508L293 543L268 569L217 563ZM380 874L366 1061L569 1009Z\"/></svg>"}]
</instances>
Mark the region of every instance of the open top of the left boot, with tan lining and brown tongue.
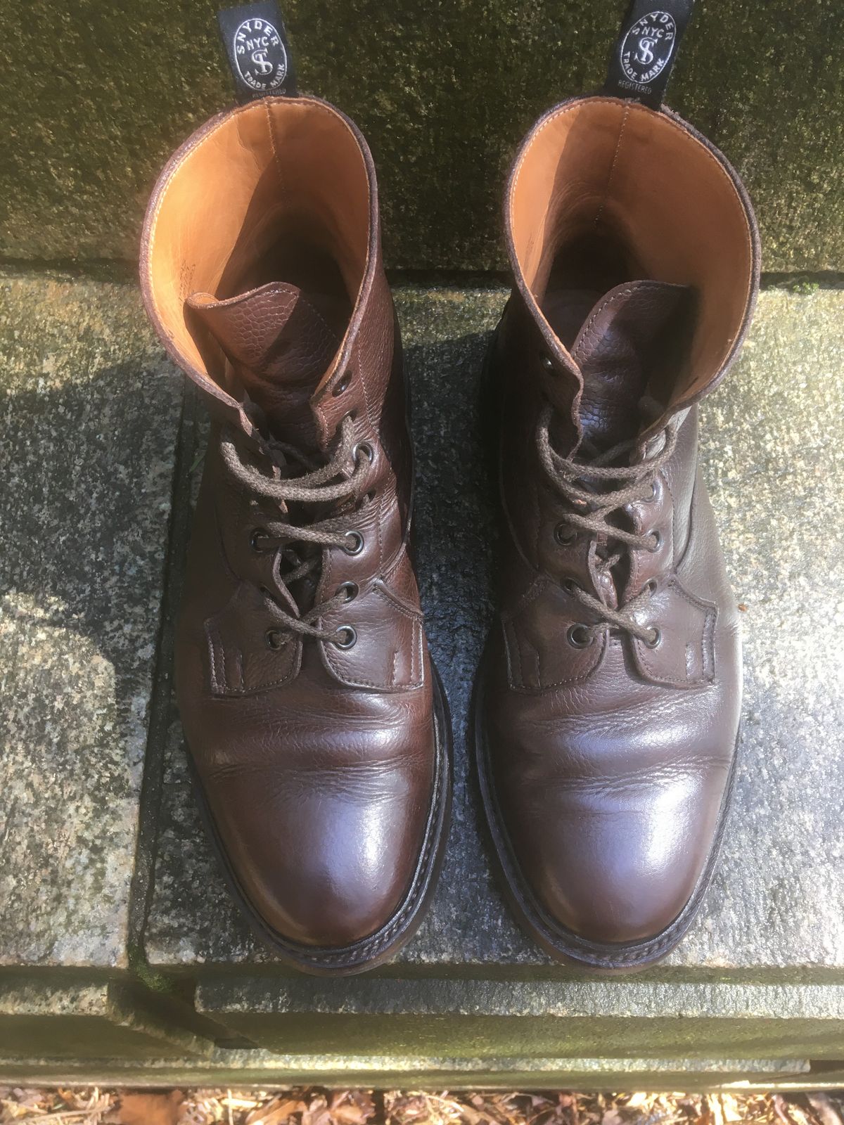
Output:
<instances>
[{"instance_id":1,"label":"open top of the left boot, with tan lining and brown tongue","mask_svg":"<svg viewBox=\"0 0 844 1125\"><path fill-rule=\"evenodd\" d=\"M324 448L366 398L377 415L394 323L375 168L327 102L264 98L189 137L153 190L141 282L164 346L221 421L253 432L246 394L270 416L309 407Z\"/></svg>"}]
</instances>

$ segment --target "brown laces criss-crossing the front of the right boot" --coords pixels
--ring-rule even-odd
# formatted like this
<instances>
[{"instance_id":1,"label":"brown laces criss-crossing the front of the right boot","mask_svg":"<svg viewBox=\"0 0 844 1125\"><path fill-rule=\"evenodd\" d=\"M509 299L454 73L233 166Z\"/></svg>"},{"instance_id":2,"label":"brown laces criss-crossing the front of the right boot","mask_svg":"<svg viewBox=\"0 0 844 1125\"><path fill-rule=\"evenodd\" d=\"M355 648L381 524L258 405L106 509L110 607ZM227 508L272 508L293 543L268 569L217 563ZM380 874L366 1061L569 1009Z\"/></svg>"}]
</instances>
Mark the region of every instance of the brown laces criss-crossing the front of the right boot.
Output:
<instances>
[{"instance_id":1,"label":"brown laces criss-crossing the front of the right boot","mask_svg":"<svg viewBox=\"0 0 844 1125\"><path fill-rule=\"evenodd\" d=\"M635 465L619 466L613 462L629 456L638 444L636 439L619 442L603 453L596 452L589 460L582 457L560 457L550 439L553 416L554 408L546 404L537 425L537 449L551 485L575 508L565 513L564 522L577 531L589 532L595 539L605 537L607 540L622 543L631 551L655 551L659 541L652 532L626 531L611 523L610 518L626 504L650 500L654 495L656 474L670 459L677 442L676 425L670 423L665 428L662 449L653 457L646 457ZM584 443L584 448L589 453L590 447ZM587 487L589 485L592 487ZM609 555L601 560L601 569L610 572L621 557L620 550ZM646 583L638 594L617 610L575 582L567 582L565 588L601 619L598 624L578 627L584 646L591 644L607 626L623 629L646 645L658 644L658 630L640 626L632 615L653 596L652 583Z\"/></svg>"}]
</instances>

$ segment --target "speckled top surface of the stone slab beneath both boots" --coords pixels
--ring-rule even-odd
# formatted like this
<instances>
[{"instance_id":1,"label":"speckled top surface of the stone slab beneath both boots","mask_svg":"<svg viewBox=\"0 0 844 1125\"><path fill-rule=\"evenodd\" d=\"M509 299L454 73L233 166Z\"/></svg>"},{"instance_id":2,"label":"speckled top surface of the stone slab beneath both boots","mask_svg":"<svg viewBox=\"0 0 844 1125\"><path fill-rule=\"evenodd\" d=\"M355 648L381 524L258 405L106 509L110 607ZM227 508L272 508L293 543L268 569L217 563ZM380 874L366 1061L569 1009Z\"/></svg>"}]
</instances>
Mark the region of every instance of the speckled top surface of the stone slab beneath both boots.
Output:
<instances>
[{"instance_id":1,"label":"speckled top surface of the stone slab beneath both boots","mask_svg":"<svg viewBox=\"0 0 844 1125\"><path fill-rule=\"evenodd\" d=\"M456 793L433 909L398 962L380 970L387 976L571 975L511 920L467 776L469 693L491 621L492 506L476 406L504 297L397 292L414 396L422 598L454 714ZM842 291L764 292L740 362L703 408L706 474L744 611L740 762L701 919L638 980L844 987L843 314ZM226 897L174 717L145 948L153 966L208 981L232 971L285 975ZM788 1009L785 992L782 1002Z\"/></svg>"}]
</instances>

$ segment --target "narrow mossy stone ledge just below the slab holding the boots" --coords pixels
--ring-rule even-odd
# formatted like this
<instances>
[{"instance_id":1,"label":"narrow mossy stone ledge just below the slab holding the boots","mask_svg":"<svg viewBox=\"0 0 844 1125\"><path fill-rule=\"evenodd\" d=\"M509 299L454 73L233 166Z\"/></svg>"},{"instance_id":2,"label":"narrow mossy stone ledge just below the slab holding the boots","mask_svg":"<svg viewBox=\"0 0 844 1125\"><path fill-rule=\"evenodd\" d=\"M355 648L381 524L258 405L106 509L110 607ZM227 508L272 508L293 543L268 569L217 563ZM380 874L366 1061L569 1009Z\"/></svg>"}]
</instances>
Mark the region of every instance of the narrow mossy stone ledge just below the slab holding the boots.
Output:
<instances>
[{"instance_id":1,"label":"narrow mossy stone ledge just below the slab holding the boots","mask_svg":"<svg viewBox=\"0 0 844 1125\"><path fill-rule=\"evenodd\" d=\"M197 1007L279 1054L841 1059L844 989L653 981L218 980Z\"/></svg>"}]
</instances>

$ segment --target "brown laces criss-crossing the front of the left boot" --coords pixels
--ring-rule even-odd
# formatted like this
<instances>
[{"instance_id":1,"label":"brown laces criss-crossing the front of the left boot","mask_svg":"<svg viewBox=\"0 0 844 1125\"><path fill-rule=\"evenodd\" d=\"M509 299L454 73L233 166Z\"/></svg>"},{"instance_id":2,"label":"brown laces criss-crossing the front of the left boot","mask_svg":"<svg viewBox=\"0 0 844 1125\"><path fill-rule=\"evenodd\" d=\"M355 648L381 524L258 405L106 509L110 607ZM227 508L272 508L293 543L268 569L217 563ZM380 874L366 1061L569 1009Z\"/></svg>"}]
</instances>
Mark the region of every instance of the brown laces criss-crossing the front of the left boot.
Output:
<instances>
[{"instance_id":1,"label":"brown laces criss-crossing the front of the left boot","mask_svg":"<svg viewBox=\"0 0 844 1125\"><path fill-rule=\"evenodd\" d=\"M261 464L250 464L237 450L235 433L233 429L224 430L221 438L221 451L226 468L235 480L251 493L277 504L335 504L351 501L358 494L371 461L370 447L366 442L353 440L352 420L349 415L340 424L340 438L331 460L322 468L315 468L295 447L272 439L262 443L267 456L261 459ZM268 467L269 476L266 471ZM290 476L290 471L296 467L306 471L299 476ZM350 468L351 474L345 476ZM263 528L255 529L261 533L261 547L257 549L280 550L282 558L290 566L290 569L281 576L281 584L290 601L294 601L290 585L321 565L318 554L303 559L294 544L300 542L317 547L342 547L350 555L357 555L363 547L363 539L360 532L348 528L348 521L356 511L357 507L341 514L335 512L324 520L306 524L294 524L289 520L279 519L268 521ZM254 534L255 532L253 537ZM353 637L350 627L332 631L313 623L349 600L350 593L347 586L348 584L343 584L332 597L312 606L299 616L285 610L278 600L273 598L281 614L281 621L268 633L268 638L277 636L277 644L273 647L280 647L285 642L285 631L331 641L341 648L350 647L349 639Z\"/></svg>"}]
</instances>

